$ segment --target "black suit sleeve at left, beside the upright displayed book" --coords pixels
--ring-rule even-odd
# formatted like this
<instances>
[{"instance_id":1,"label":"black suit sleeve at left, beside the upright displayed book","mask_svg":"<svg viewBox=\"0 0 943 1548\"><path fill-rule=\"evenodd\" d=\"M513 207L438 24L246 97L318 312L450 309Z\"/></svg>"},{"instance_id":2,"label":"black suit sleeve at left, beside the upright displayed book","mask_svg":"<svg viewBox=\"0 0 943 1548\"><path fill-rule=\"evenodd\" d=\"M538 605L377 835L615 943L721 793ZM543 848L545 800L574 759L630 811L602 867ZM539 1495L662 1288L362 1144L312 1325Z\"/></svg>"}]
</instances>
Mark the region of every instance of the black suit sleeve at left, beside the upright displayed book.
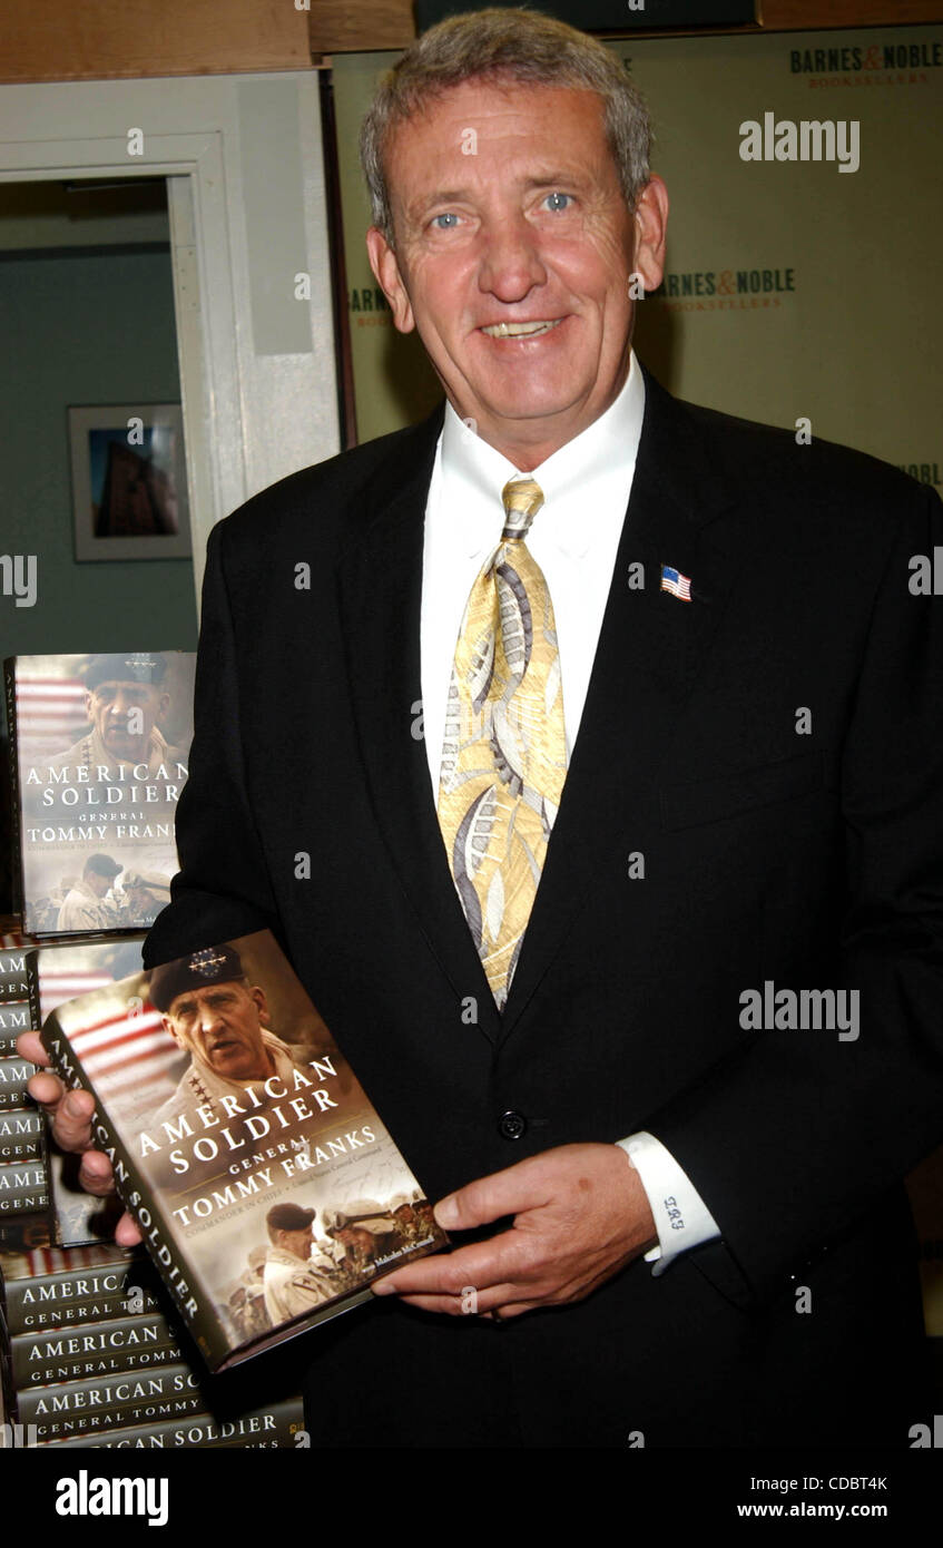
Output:
<instances>
[{"instance_id":1,"label":"black suit sleeve at left, beside the upright displayed book","mask_svg":"<svg viewBox=\"0 0 943 1548\"><path fill-rule=\"evenodd\" d=\"M180 872L144 944L147 968L254 930L279 933L246 794L238 683L223 528L217 526L206 550L189 779L177 808Z\"/></svg>"}]
</instances>

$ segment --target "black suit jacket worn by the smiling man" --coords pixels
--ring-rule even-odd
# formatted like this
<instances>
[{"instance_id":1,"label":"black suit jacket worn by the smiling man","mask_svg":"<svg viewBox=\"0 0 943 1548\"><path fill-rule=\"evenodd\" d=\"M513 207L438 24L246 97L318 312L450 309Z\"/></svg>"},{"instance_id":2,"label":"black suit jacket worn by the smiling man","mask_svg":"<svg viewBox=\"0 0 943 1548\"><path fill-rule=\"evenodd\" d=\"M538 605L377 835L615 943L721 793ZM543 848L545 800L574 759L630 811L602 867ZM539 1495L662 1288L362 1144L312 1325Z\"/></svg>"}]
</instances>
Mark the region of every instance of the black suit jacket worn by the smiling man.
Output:
<instances>
[{"instance_id":1,"label":"black suit jacket worn by the smiling man","mask_svg":"<svg viewBox=\"0 0 943 1548\"><path fill-rule=\"evenodd\" d=\"M417 724L440 427L299 472L214 531L181 875L147 960L269 926L434 1198L647 1128L723 1240L505 1325L389 1302L341 1317L305 1345L316 1440L904 1446L920 1308L900 1180L943 1096L943 619L907 582L940 503L646 376L499 1017ZM661 591L663 563L691 602ZM859 1037L745 1029L740 995L766 980L859 991Z\"/></svg>"}]
</instances>

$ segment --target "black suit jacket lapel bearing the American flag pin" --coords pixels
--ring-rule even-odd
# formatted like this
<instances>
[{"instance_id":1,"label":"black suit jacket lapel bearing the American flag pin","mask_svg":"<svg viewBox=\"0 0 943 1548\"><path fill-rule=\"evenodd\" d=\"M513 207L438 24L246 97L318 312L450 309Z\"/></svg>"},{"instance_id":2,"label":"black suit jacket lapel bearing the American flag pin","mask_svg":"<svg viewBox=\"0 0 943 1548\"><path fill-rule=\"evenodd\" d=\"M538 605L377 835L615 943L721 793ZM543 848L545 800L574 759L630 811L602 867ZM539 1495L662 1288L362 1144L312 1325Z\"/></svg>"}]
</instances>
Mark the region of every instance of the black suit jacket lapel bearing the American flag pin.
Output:
<instances>
[{"instance_id":1,"label":"black suit jacket lapel bearing the American flag pin","mask_svg":"<svg viewBox=\"0 0 943 1548\"><path fill-rule=\"evenodd\" d=\"M646 372L646 415L599 646L540 885L511 985L508 1037L551 961L593 876L626 873L627 941L646 885L629 881L658 820L660 771L736 573L711 520L729 505L709 447L683 406ZM644 565L644 587L629 585ZM692 579L692 601L661 590L661 565ZM633 571L638 576L638 571ZM565 649L565 646L564 646ZM630 947L629 947L630 949Z\"/></svg>"}]
</instances>

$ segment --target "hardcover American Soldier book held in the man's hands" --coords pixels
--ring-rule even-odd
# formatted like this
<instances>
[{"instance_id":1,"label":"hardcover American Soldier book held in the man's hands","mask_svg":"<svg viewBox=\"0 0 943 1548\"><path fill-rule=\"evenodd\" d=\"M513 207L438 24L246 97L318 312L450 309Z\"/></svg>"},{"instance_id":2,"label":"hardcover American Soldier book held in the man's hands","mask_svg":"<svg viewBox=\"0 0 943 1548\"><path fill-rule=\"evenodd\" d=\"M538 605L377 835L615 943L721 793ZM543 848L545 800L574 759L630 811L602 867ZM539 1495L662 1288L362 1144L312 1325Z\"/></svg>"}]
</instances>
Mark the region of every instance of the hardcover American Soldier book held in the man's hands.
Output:
<instances>
[{"instance_id":1,"label":"hardcover American Soldier book held in the man's hands","mask_svg":"<svg viewBox=\"0 0 943 1548\"><path fill-rule=\"evenodd\" d=\"M446 1246L268 930L70 1000L43 1025L211 1370Z\"/></svg>"}]
</instances>

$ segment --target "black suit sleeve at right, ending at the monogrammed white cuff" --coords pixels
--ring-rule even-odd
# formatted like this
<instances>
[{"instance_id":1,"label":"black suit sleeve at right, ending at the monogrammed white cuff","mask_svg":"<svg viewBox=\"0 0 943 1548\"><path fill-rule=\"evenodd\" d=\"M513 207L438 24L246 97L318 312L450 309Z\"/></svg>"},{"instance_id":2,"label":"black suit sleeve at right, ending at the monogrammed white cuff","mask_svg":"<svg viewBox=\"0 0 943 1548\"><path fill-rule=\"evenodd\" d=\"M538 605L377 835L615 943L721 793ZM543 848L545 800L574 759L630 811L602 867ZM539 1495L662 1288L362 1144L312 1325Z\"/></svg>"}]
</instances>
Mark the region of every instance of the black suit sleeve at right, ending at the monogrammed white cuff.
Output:
<instances>
[{"instance_id":1,"label":"black suit sleeve at right, ending at the monogrammed white cuff","mask_svg":"<svg viewBox=\"0 0 943 1548\"><path fill-rule=\"evenodd\" d=\"M855 991L859 1036L757 1031L650 1125L757 1296L943 1138L943 599L909 590L912 556L943 542L940 515L914 491L889 553L842 749L835 977L793 986Z\"/></svg>"}]
</instances>

